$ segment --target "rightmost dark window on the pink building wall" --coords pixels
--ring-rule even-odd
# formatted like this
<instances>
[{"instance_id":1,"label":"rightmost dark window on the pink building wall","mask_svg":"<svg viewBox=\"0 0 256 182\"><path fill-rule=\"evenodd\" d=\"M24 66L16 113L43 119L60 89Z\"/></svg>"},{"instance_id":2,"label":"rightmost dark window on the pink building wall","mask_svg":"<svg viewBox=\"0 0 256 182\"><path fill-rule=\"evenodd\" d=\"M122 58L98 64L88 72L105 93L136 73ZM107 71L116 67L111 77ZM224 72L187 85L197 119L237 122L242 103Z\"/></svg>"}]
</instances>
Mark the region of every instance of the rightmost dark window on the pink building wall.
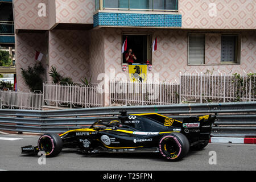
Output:
<instances>
[{"instance_id":1,"label":"rightmost dark window on the pink building wall","mask_svg":"<svg viewBox=\"0 0 256 182\"><path fill-rule=\"evenodd\" d=\"M238 53L238 36L221 36L221 62L236 62Z\"/></svg>"}]
</instances>

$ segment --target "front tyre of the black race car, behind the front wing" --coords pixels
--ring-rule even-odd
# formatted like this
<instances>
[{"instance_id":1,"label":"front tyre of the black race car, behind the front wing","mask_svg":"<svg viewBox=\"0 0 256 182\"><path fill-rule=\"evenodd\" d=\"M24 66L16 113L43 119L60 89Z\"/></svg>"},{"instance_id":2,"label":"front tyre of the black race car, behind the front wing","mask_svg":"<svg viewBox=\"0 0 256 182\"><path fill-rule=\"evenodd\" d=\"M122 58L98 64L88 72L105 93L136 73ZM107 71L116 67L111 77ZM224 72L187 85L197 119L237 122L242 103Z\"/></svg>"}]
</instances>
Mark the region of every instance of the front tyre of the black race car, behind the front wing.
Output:
<instances>
[{"instance_id":1,"label":"front tyre of the black race car, behind the front wing","mask_svg":"<svg viewBox=\"0 0 256 182\"><path fill-rule=\"evenodd\" d=\"M46 152L46 157L58 155L62 150L63 142L56 133L47 133L42 135L38 140L38 150Z\"/></svg>"}]
</instances>

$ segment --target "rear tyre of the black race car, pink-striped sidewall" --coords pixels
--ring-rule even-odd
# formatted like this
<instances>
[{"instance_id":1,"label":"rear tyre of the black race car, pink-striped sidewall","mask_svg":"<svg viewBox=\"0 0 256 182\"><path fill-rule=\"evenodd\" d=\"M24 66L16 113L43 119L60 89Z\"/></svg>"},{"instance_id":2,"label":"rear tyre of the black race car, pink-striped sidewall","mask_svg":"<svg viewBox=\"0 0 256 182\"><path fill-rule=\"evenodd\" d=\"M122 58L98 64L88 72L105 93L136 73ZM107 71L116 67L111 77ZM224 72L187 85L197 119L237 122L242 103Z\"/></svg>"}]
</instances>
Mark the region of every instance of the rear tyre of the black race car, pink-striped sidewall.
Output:
<instances>
[{"instance_id":1,"label":"rear tyre of the black race car, pink-striped sidewall","mask_svg":"<svg viewBox=\"0 0 256 182\"><path fill-rule=\"evenodd\" d=\"M177 161L184 158L189 151L189 142L182 133L171 133L164 135L159 140L160 154L170 161Z\"/></svg>"}]
</instances>

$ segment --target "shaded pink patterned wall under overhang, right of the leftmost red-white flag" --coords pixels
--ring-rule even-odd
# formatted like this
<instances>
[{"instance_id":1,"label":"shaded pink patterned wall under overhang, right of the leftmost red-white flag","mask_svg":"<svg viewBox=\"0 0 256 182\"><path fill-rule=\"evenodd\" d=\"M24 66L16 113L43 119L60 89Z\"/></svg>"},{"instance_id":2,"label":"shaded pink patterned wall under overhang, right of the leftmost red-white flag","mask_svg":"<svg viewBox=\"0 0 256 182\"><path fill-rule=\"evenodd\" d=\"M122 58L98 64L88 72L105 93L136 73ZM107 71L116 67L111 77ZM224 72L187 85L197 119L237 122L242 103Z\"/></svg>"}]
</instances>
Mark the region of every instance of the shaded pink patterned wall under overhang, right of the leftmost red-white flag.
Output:
<instances>
[{"instance_id":1,"label":"shaded pink patterned wall under overhang, right of the leftmost red-white flag","mask_svg":"<svg viewBox=\"0 0 256 182\"><path fill-rule=\"evenodd\" d=\"M81 82L90 75L88 31L53 30L49 31L49 69ZM48 75L48 74L47 74ZM51 78L47 76L50 81Z\"/></svg>"}]
</instances>

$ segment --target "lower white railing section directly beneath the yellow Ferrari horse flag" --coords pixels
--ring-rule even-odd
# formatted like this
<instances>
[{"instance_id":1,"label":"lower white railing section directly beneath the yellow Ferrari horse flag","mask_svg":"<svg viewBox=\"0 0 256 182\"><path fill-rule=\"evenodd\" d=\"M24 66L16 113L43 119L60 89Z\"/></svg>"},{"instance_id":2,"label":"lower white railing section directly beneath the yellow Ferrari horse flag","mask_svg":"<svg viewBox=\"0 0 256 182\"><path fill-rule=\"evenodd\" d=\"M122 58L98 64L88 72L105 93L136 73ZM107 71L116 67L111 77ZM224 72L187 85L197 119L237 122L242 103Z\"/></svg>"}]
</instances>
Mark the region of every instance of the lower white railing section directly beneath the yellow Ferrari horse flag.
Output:
<instances>
[{"instance_id":1,"label":"lower white railing section directly beneath the yellow Ferrari horse flag","mask_svg":"<svg viewBox=\"0 0 256 182\"><path fill-rule=\"evenodd\" d=\"M110 104L165 105L179 103L179 84L110 81Z\"/></svg>"}]
</instances>

